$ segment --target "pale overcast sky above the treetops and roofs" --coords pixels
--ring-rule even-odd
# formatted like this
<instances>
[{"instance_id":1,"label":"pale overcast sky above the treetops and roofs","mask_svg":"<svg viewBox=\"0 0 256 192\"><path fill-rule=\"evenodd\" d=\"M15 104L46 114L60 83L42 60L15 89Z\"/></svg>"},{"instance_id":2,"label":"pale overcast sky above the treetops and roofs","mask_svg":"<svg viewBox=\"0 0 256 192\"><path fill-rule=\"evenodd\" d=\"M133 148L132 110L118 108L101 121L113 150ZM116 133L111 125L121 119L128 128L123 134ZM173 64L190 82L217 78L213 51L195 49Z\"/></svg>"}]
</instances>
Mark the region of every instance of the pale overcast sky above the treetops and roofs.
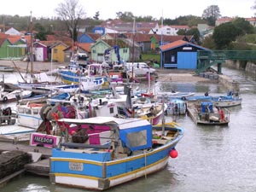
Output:
<instances>
[{"instance_id":1,"label":"pale overcast sky above the treetops and roofs","mask_svg":"<svg viewBox=\"0 0 256 192\"><path fill-rule=\"evenodd\" d=\"M218 5L222 16L253 17L256 10L251 9L255 0L79 0L84 7L87 17L93 17L97 11L100 19L114 19L116 13L131 12L135 16L161 16L175 19L178 16L201 16L204 9L211 5ZM1 3L1 15L32 15L35 17L55 16L55 8L64 0L7 0Z\"/></svg>"}]
</instances>

